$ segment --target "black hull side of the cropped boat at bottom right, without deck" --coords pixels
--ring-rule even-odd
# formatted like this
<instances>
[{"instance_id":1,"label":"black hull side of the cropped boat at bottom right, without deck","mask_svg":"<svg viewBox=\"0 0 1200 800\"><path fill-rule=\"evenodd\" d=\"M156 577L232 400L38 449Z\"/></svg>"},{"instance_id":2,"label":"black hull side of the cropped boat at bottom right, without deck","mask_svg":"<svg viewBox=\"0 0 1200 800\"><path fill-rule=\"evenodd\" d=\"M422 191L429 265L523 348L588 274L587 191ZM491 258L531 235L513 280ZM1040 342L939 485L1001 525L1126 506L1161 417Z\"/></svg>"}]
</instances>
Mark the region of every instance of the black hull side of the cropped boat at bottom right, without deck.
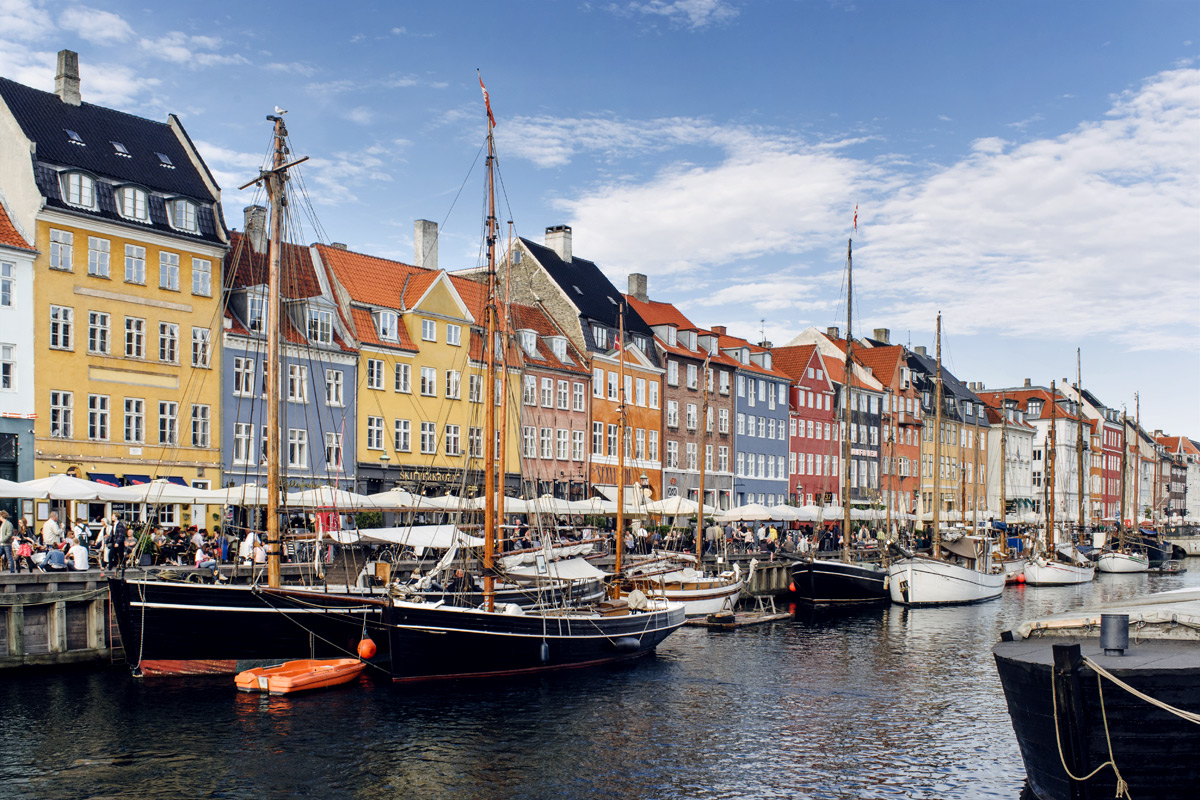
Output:
<instances>
[{"instance_id":1,"label":"black hull side of the cropped boat at bottom right, without deck","mask_svg":"<svg viewBox=\"0 0 1200 800\"><path fill-rule=\"evenodd\" d=\"M1085 796L1070 794L1072 781L1063 771L1055 733L1050 652L1052 644L1069 640L1018 639L1001 642L992 650L1030 788L1040 800ZM1200 658L1195 651L1194 642L1151 640L1135 644L1124 656L1108 657L1097 639L1082 640L1084 655L1121 680L1170 705L1200 712L1200 696L1195 691L1200 685ZM1087 775L1109 759L1106 729L1130 796L1139 800L1195 796L1200 786L1200 726L1145 703L1108 680L1103 685L1102 712L1096 674L1086 666L1080 673L1081 740L1086 754L1084 768L1073 771ZM1058 730L1067 748L1068 720L1062 697L1058 714ZM1100 770L1084 786L1086 796L1116 794L1111 768Z\"/></svg>"}]
</instances>

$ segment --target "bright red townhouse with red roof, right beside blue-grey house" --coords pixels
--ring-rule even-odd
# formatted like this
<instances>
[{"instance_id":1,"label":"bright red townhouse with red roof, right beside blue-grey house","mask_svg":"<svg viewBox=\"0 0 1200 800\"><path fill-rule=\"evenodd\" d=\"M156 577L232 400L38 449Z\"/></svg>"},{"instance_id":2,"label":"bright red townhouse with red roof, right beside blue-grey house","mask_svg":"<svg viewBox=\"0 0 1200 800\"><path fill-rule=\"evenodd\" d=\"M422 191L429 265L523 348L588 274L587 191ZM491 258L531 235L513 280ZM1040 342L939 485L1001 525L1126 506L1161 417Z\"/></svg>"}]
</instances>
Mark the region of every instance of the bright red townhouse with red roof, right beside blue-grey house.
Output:
<instances>
[{"instance_id":1,"label":"bright red townhouse with red roof, right beside blue-grey house","mask_svg":"<svg viewBox=\"0 0 1200 800\"><path fill-rule=\"evenodd\" d=\"M839 493L834 457L838 420L834 384L815 344L772 350L775 366L792 379L788 387L788 500L794 505L833 503Z\"/></svg>"}]
</instances>

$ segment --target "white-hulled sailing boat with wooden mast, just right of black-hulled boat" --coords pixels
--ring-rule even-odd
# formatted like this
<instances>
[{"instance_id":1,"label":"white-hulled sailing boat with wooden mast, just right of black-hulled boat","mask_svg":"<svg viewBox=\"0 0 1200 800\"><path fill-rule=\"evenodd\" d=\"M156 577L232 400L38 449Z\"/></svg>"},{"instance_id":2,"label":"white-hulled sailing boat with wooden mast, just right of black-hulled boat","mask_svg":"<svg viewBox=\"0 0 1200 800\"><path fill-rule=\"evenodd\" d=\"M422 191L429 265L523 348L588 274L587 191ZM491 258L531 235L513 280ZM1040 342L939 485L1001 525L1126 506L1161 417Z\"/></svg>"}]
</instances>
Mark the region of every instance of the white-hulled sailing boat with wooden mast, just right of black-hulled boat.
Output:
<instances>
[{"instance_id":1,"label":"white-hulled sailing boat with wooden mast, just right of black-hulled boat","mask_svg":"<svg viewBox=\"0 0 1200 800\"><path fill-rule=\"evenodd\" d=\"M905 553L888 569L893 602L950 606L994 600L1004 589L1004 572L991 564L991 543L979 536L942 542L942 315L937 315L937 369L934 375L934 547L929 555ZM944 553L942 552L944 548ZM901 551L904 552L904 551Z\"/></svg>"}]
</instances>

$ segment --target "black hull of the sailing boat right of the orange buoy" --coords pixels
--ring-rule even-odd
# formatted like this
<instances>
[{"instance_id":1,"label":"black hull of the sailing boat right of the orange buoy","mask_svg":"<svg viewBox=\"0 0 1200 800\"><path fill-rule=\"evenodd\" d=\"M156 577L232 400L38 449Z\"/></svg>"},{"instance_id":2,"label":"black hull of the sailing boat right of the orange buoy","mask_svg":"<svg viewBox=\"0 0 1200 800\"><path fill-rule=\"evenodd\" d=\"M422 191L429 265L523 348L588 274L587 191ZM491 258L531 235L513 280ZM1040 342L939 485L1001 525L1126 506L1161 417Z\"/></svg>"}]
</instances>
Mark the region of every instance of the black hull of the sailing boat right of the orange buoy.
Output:
<instances>
[{"instance_id":1,"label":"black hull of the sailing boat right of the orange buoy","mask_svg":"<svg viewBox=\"0 0 1200 800\"><path fill-rule=\"evenodd\" d=\"M636 658L684 624L678 603L647 610L521 614L514 609L396 602L383 610L396 682L494 678Z\"/></svg>"}]
</instances>

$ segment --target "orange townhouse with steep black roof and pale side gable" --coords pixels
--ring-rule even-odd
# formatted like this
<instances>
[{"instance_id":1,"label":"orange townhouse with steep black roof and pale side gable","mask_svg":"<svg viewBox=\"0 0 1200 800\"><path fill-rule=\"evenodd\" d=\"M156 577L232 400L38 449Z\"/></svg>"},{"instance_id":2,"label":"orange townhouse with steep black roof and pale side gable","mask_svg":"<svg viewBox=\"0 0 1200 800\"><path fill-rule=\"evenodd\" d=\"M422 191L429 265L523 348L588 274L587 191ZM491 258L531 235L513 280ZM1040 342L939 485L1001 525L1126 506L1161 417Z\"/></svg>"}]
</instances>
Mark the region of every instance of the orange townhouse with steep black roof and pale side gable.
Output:
<instances>
[{"instance_id":1,"label":"orange townhouse with steep black roof and pale side gable","mask_svg":"<svg viewBox=\"0 0 1200 800\"><path fill-rule=\"evenodd\" d=\"M568 225L547 228L544 245L518 239L502 270L512 300L545 312L592 371L588 482L612 500L624 483L630 505L661 499L666 369L654 331L594 261L575 255Z\"/></svg>"}]
</instances>

